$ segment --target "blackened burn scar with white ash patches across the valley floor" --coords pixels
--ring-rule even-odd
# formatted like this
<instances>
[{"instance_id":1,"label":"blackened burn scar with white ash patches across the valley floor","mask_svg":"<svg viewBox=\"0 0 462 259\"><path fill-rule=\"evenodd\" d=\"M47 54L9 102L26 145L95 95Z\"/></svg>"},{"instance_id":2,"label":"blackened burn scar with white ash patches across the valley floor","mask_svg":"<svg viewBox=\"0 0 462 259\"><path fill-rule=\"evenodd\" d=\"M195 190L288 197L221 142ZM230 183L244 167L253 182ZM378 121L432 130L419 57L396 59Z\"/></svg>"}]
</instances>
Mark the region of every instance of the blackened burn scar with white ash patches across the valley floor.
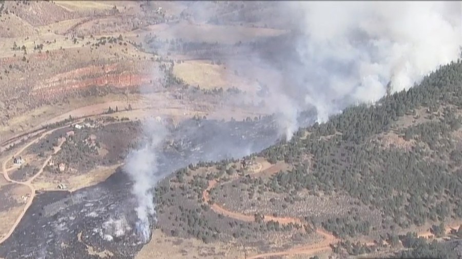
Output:
<instances>
[{"instance_id":1,"label":"blackened burn scar with white ash patches across the valley floor","mask_svg":"<svg viewBox=\"0 0 462 259\"><path fill-rule=\"evenodd\" d=\"M312 120L305 117L300 122ZM271 117L245 122L191 119L170 134L158 158L159 169L165 172L199 161L246 156L278 138ZM0 246L0 257L100 258L91 253L107 249L113 253L111 258L133 258L143 244L137 234L131 186L119 168L106 181L72 193L37 193L21 223Z\"/></svg>"}]
</instances>

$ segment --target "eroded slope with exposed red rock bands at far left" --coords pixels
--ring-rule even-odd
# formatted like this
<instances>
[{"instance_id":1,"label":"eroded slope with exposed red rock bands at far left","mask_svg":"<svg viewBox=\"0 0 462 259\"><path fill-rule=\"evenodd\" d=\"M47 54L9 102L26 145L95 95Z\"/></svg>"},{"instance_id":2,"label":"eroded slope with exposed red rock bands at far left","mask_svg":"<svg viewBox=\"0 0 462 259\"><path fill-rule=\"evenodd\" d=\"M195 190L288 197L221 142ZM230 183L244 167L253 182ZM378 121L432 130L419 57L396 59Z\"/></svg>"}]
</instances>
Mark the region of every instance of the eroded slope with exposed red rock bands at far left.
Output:
<instances>
[{"instance_id":1,"label":"eroded slope with exposed red rock bands at far left","mask_svg":"<svg viewBox=\"0 0 462 259\"><path fill-rule=\"evenodd\" d=\"M66 98L136 89L151 84L155 63L109 55L95 58L79 49L32 52L26 60L22 55L0 58L0 104L8 111L4 116L11 117Z\"/></svg>"}]
</instances>

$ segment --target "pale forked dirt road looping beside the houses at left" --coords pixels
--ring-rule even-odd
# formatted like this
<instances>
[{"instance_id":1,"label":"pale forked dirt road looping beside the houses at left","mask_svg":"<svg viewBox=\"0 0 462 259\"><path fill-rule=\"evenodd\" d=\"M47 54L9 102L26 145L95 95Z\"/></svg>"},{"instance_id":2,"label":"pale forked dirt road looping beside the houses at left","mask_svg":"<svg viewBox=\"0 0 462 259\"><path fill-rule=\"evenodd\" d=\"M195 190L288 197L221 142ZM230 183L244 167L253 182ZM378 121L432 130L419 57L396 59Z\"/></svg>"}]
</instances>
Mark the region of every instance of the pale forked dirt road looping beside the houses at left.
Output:
<instances>
[{"instance_id":1,"label":"pale forked dirt road looping beside the houses at left","mask_svg":"<svg viewBox=\"0 0 462 259\"><path fill-rule=\"evenodd\" d=\"M62 128L62 127L60 127ZM48 134L56 131L56 130L59 130L60 128L55 128L53 130L50 130L50 131L47 131L45 133L42 134L42 136L32 140L31 142L29 142L27 145L23 146L20 150L18 150L15 154L14 154L14 157L17 157L19 156L21 153L24 152L24 150L26 150L26 148L28 148L29 146L31 146L32 144L38 142L39 140L41 140L42 138L44 138L45 136L47 136ZM23 210L21 211L21 214L17 217L16 221L14 222L13 226L10 228L10 231L8 231L8 233L2 238L0 239L0 244L2 244L3 242L5 242L5 240L7 240L10 235L13 233L14 229L16 229L17 225L21 222L21 220L23 219L24 217L24 214L26 213L27 209L30 207L30 205L32 205L32 201L34 200L34 197L35 197L35 188L34 186L32 185L32 181L37 178L38 176L40 176L40 174L42 174L43 172L43 169L45 168L45 166L48 164L48 162L50 161L50 159L53 157L53 155L55 155L57 152L59 152L61 150L61 146L63 145L65 140L62 140L60 141L59 145L57 147L54 148L54 152L45 160L45 162L43 163L42 167L40 168L40 170L38 170L38 172L32 176L31 178L29 178L27 181L25 182L19 182L19 181L15 181L15 180L12 180L10 179L10 176L8 175L8 171L9 169L7 169L6 167L6 164L8 163L8 161L10 160L10 158L6 158L3 163L2 163L2 171L3 171L3 177L5 178L5 180L7 180L8 182L10 183L15 183L15 184L22 184L22 185L26 185L27 187L29 187L30 189L30 197L29 199L27 200L27 203L26 205L24 206ZM11 168L10 168L11 169Z\"/></svg>"}]
</instances>

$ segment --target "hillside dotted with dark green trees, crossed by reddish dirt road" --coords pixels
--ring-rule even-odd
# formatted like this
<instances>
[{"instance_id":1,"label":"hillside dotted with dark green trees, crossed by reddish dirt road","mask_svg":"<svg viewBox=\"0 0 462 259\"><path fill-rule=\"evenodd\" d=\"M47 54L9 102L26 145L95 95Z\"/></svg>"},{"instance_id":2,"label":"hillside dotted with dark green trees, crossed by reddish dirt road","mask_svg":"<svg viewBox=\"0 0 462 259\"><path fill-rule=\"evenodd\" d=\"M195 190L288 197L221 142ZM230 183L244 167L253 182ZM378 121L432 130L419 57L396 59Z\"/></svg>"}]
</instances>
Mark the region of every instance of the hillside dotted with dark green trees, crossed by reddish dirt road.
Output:
<instances>
[{"instance_id":1,"label":"hillside dotted with dark green trees, crossed by reddish dirt road","mask_svg":"<svg viewBox=\"0 0 462 259\"><path fill-rule=\"evenodd\" d=\"M254 169L226 160L178 170L158 188L159 227L167 235L234 240L257 251L286 250L283 236L299 236L290 247L310 243L303 240L313 229L325 229L340 240L333 246L338 254L380 256L411 247L397 256L456 258L453 249L401 234L433 225L431 233L440 236L445 226L456 231L462 222L461 125L458 60L407 92L349 107L327 123L301 128L289 142L244 158L256 158ZM181 217L173 213L178 208ZM236 221L246 217L251 222ZM297 223L306 232L292 231ZM276 243L265 247L261 238Z\"/></svg>"}]
</instances>

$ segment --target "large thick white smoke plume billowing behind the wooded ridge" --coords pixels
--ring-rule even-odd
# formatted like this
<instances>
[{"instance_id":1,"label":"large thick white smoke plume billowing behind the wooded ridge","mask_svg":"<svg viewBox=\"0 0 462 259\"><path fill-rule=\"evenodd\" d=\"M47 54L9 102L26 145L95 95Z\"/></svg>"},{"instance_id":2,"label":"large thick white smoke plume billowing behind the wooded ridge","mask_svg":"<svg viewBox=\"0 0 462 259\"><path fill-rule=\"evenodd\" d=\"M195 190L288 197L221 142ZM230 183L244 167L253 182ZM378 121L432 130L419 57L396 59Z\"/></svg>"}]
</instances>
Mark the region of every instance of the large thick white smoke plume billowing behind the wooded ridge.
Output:
<instances>
[{"instance_id":1,"label":"large thick white smoke plume billowing behind the wooded ridge","mask_svg":"<svg viewBox=\"0 0 462 259\"><path fill-rule=\"evenodd\" d=\"M345 104L375 102L458 57L461 2L289 2L305 102L318 121ZM389 89L387 89L387 85ZM333 100L348 100L336 105ZM334 101L334 102L335 102Z\"/></svg>"}]
</instances>

